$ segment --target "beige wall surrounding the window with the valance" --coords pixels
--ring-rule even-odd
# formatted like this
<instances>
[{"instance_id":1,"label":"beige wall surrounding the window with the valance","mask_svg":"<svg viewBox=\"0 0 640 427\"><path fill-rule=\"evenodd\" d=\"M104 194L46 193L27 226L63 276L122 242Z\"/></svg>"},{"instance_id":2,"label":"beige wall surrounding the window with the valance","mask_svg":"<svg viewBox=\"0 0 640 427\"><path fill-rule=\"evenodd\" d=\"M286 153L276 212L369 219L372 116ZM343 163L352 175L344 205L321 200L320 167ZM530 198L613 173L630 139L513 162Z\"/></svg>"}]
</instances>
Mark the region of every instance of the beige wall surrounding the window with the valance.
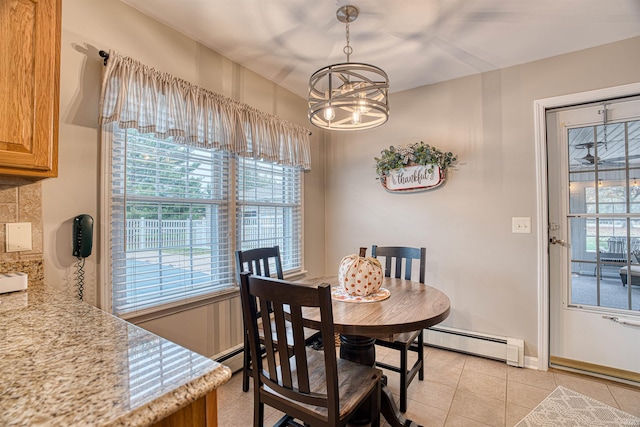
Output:
<instances>
[{"instance_id":1,"label":"beige wall surrounding the window with the valance","mask_svg":"<svg viewBox=\"0 0 640 427\"><path fill-rule=\"evenodd\" d=\"M154 21L119 0L65 0L62 10L59 177L42 183L45 282L73 292L71 221L95 219L94 251L86 260L85 299L98 298L101 149L98 104L102 72L99 50L113 49L147 65L310 127L306 101L199 43ZM215 31L215 29L212 29ZM305 267L324 273L324 149L321 132L311 138L312 168L305 174ZM237 301L155 319L145 326L200 353L211 355L237 344L242 334ZM229 331L233 331L230 334Z\"/></svg>"}]
</instances>

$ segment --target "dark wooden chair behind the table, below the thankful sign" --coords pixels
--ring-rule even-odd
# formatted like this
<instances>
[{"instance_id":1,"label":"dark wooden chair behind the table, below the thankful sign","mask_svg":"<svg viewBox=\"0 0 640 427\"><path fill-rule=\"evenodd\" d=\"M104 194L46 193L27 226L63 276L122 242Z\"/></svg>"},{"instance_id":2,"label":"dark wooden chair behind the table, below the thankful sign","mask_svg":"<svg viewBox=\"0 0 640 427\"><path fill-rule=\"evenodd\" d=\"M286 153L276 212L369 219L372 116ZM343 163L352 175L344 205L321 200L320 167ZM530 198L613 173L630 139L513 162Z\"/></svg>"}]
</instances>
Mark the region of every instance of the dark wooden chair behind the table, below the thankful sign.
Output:
<instances>
[{"instance_id":1,"label":"dark wooden chair behind the table, below the thankful sign","mask_svg":"<svg viewBox=\"0 0 640 427\"><path fill-rule=\"evenodd\" d=\"M420 283L424 283L424 271L426 264L425 248L409 248L404 246L376 246L371 248L371 256L384 257L385 277L404 278L411 280L413 261L418 261ZM402 270L404 266L404 276ZM393 341L376 339L376 344L382 347L400 351L400 366L376 361L376 366L400 373L400 411L407 410L407 388L418 374L420 381L424 379L424 338L422 329L398 334ZM418 354L418 360L411 368L408 367L409 351Z\"/></svg>"}]
</instances>

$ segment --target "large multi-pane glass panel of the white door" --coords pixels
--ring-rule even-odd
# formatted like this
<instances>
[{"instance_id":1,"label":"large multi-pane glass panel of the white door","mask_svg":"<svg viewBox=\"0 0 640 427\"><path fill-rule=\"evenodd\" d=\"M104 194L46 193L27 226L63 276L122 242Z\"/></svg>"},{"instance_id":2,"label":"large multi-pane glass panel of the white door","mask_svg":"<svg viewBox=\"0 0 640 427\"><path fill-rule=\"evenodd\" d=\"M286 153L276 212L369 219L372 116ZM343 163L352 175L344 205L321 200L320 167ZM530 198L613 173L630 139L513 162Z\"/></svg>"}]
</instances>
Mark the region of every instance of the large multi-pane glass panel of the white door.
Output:
<instances>
[{"instance_id":1,"label":"large multi-pane glass panel of the white door","mask_svg":"<svg viewBox=\"0 0 640 427\"><path fill-rule=\"evenodd\" d=\"M569 304L640 310L640 122L569 129L568 141Z\"/></svg>"}]
</instances>

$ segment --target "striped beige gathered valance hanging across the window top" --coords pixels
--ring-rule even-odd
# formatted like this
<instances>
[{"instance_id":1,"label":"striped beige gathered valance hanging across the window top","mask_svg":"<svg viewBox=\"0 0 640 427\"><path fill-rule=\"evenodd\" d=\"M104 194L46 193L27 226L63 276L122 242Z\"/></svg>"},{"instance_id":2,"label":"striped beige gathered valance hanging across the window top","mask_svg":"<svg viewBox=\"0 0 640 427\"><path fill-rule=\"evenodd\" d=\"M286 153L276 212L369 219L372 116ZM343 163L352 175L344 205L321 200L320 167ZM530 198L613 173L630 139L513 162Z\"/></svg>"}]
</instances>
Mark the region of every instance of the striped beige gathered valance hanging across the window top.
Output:
<instances>
[{"instance_id":1,"label":"striped beige gathered valance hanging across the window top","mask_svg":"<svg viewBox=\"0 0 640 427\"><path fill-rule=\"evenodd\" d=\"M309 130L109 51L100 124L311 169Z\"/></svg>"}]
</instances>

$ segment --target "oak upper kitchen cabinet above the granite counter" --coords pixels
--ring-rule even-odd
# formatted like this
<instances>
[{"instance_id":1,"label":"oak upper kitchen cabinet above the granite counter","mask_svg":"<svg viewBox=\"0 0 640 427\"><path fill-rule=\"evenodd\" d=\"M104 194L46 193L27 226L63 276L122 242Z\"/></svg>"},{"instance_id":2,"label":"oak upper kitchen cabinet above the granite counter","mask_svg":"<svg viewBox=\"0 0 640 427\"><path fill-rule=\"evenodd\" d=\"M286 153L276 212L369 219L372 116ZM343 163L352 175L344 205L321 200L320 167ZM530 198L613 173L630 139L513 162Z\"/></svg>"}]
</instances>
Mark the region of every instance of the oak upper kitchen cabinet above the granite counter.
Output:
<instances>
[{"instance_id":1,"label":"oak upper kitchen cabinet above the granite counter","mask_svg":"<svg viewBox=\"0 0 640 427\"><path fill-rule=\"evenodd\" d=\"M0 175L58 176L61 0L0 1Z\"/></svg>"}]
</instances>

